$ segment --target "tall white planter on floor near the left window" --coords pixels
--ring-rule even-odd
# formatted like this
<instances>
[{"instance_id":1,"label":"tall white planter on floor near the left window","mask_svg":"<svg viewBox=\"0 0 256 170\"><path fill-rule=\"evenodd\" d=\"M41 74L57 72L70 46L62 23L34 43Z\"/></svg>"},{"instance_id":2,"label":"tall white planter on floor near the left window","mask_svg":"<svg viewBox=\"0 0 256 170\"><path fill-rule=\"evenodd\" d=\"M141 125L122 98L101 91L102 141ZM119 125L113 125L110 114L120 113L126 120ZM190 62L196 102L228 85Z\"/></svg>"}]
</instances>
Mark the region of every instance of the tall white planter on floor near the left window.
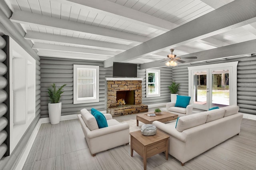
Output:
<instances>
[{"instance_id":1,"label":"tall white planter on floor near the left window","mask_svg":"<svg viewBox=\"0 0 256 170\"><path fill-rule=\"evenodd\" d=\"M52 125L60 123L61 102L48 103L48 112L49 112L50 123Z\"/></svg>"}]
</instances>

